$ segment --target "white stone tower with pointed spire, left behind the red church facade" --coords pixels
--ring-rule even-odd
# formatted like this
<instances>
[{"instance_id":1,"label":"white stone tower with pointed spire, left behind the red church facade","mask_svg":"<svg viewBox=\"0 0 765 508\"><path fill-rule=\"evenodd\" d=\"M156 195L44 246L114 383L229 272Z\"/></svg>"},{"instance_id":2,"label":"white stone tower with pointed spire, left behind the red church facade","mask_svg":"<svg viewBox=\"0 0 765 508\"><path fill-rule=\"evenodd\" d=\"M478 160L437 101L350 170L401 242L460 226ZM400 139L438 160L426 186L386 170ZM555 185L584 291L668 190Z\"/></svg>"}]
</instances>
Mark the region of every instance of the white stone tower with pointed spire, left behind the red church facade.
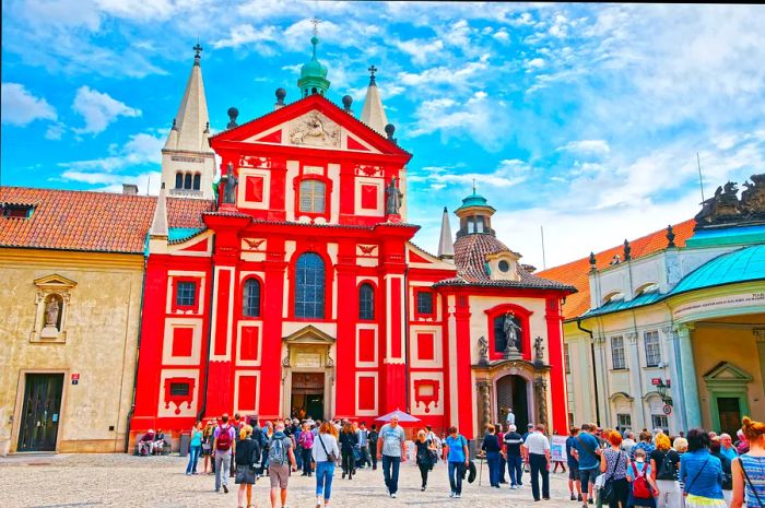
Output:
<instances>
[{"instance_id":1,"label":"white stone tower with pointed spire, left behind the red church facade","mask_svg":"<svg viewBox=\"0 0 765 508\"><path fill-rule=\"evenodd\" d=\"M214 199L215 156L208 143L210 118L199 63L202 47L197 44L193 50L191 75L162 149L162 182L168 196Z\"/></svg>"}]
</instances>

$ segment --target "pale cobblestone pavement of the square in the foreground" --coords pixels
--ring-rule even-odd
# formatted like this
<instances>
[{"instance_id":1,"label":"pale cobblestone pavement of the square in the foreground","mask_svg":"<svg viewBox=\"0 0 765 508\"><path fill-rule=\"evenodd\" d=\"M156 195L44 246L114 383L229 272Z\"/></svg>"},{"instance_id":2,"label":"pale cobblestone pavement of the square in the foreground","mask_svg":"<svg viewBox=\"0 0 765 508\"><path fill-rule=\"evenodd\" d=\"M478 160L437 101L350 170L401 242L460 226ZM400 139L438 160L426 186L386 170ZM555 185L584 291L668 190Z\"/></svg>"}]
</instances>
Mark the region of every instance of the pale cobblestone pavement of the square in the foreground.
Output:
<instances>
[{"instance_id":1,"label":"pale cobblestone pavement of the square in the foreground","mask_svg":"<svg viewBox=\"0 0 765 508\"><path fill-rule=\"evenodd\" d=\"M476 462L476 465L479 462ZM79 508L79 507L226 507L237 506L236 488L231 479L231 492L213 492L211 475L186 476L186 458L132 457L126 454L58 454L14 456L0 459L0 506L3 508ZM525 486L510 491L487 486L487 469L483 464L482 486L464 483L461 499L449 498L449 483L444 464L431 473L427 491L420 492L420 471L410 463L402 464L399 496L391 499L385 492L382 472L360 470L352 481L341 480L336 469L332 483L332 507L572 507L566 476L551 474L552 500L533 503L528 475ZM293 475L290 480L291 508L314 508L315 479ZM268 480L254 488L254 503L270 508Z\"/></svg>"}]
</instances>

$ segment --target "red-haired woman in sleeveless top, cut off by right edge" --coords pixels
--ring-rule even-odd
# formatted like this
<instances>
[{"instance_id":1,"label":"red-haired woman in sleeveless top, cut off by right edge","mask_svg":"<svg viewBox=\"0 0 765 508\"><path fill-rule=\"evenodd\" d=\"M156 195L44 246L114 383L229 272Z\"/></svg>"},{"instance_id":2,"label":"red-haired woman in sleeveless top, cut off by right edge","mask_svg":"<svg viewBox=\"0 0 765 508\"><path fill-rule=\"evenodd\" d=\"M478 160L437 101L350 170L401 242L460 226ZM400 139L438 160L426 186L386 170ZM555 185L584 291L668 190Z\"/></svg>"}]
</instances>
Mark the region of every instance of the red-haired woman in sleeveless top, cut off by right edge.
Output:
<instances>
[{"instance_id":1,"label":"red-haired woman in sleeveless top, cut off by right edge","mask_svg":"<svg viewBox=\"0 0 765 508\"><path fill-rule=\"evenodd\" d=\"M733 459L731 508L765 506L765 423L744 416L743 434L749 451Z\"/></svg>"}]
</instances>

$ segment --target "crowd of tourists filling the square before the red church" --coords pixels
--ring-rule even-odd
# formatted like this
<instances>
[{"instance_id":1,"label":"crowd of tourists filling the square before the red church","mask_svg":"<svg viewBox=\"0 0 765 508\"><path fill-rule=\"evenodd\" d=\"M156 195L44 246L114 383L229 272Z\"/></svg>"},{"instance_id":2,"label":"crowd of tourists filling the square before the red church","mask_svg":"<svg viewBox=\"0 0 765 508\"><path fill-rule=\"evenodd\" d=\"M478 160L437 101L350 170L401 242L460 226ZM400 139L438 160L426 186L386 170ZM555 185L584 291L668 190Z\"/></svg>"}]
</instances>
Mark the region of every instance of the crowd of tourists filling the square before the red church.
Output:
<instances>
[{"instance_id":1,"label":"crowd of tourists filling the square before the red church","mask_svg":"<svg viewBox=\"0 0 765 508\"><path fill-rule=\"evenodd\" d=\"M765 423L743 420L735 440L728 434L692 429L669 436L661 429L572 427L565 458L551 456L544 425L529 424L520 434L515 418L489 425L476 460L489 466L489 485L510 489L525 486L529 475L534 500L549 500L550 473L560 466L568 475L569 499L582 508L765 508ZM252 506L252 485L270 482L272 508L285 508L291 473L316 479L316 507L329 506L336 468L342 480L358 469L382 469L387 494L399 489L400 465L408 457L407 437L397 418L377 428L365 422L286 418L264 422L223 415L197 423L191 433L186 474L214 474L215 492L228 493L228 480L238 485L238 506ZM460 498L466 476L475 476L470 447L457 427L438 437L431 427L416 429L413 442L425 491L434 466L444 461L449 497ZM507 479L505 480L505 473ZM469 475L468 475L469 474ZM246 501L246 503L245 503Z\"/></svg>"}]
</instances>

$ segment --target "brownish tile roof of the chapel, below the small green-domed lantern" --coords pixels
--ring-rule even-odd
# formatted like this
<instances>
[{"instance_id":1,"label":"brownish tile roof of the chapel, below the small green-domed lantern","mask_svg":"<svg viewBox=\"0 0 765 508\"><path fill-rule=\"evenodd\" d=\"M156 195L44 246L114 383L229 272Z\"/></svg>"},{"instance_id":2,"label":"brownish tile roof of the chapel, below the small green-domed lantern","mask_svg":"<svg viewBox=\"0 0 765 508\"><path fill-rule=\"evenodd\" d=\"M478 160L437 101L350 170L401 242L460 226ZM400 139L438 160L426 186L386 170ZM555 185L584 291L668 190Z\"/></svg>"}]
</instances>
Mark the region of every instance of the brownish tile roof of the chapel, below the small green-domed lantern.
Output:
<instances>
[{"instance_id":1,"label":"brownish tile roof of the chapel, below the small green-domed lantern","mask_svg":"<svg viewBox=\"0 0 765 508\"><path fill-rule=\"evenodd\" d=\"M494 235L464 235L455 241L455 264L457 276L439 281L436 285L482 285L497 287L533 287L551 290L570 290L565 283L550 281L529 273L520 265L517 267L519 281L495 281L486 273L486 255L510 249Z\"/></svg>"}]
</instances>

